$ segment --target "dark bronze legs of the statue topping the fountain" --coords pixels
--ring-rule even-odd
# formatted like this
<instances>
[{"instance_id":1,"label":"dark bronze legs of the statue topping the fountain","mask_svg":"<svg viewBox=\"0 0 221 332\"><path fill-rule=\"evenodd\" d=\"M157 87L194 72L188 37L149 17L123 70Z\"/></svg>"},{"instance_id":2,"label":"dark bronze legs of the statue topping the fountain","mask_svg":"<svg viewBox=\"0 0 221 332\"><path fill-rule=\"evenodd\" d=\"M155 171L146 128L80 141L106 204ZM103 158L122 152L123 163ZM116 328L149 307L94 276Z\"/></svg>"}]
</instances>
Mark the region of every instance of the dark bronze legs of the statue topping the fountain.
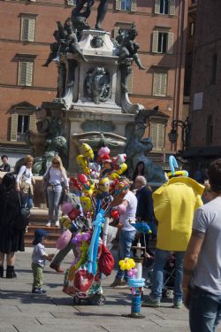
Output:
<instances>
[{"instance_id":1,"label":"dark bronze legs of the statue topping the fountain","mask_svg":"<svg viewBox=\"0 0 221 332\"><path fill-rule=\"evenodd\" d=\"M81 18L81 19L79 19L81 24L82 24L82 18L84 18L85 20L88 19L88 17L91 14L91 7L93 6L94 3L95 3L94 0L77 0L76 1L76 7L72 11L72 20L74 21L74 24L77 25L78 18ZM85 4L87 4L86 9L84 12L82 12L82 9ZM107 13L107 10L108 10L108 0L100 0L100 4L97 8L95 29L102 30L101 25L103 23L103 19ZM81 25L81 28L80 27L77 27L77 28L78 29L80 28L81 30L83 28L88 28L88 24L85 23L85 25L86 25L85 27L83 27Z\"/></svg>"}]
</instances>

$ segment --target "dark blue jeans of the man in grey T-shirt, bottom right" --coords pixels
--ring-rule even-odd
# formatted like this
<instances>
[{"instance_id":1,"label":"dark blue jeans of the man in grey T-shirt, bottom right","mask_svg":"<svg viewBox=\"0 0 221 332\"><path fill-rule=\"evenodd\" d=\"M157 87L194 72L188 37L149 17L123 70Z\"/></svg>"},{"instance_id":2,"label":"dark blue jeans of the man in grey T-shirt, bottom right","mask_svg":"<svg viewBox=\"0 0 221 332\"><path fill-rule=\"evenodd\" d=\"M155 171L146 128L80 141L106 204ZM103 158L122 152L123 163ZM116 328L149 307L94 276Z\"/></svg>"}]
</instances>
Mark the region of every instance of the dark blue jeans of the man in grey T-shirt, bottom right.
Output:
<instances>
[{"instance_id":1,"label":"dark blue jeans of the man in grey T-shirt, bottom right","mask_svg":"<svg viewBox=\"0 0 221 332\"><path fill-rule=\"evenodd\" d=\"M221 295L195 287L190 299L189 326L191 332L214 332L221 320Z\"/></svg>"}]
</instances>

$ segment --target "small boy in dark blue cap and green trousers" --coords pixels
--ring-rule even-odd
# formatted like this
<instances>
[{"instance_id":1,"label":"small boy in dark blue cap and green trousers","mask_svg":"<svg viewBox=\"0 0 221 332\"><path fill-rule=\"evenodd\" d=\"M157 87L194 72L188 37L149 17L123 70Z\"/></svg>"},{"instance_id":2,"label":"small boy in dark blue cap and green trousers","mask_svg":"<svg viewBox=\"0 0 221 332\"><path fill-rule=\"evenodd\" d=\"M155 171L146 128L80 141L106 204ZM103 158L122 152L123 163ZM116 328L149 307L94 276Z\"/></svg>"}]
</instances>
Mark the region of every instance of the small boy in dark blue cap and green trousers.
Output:
<instances>
[{"instance_id":1,"label":"small boy in dark blue cap and green trousers","mask_svg":"<svg viewBox=\"0 0 221 332\"><path fill-rule=\"evenodd\" d=\"M53 254L48 255L45 252L44 243L48 233L42 228L38 228L34 232L34 250L32 254L32 270L34 276L34 282L32 287L32 293L44 294L46 290L42 290L42 277L43 268L45 266L45 260L51 261L54 257Z\"/></svg>"}]
</instances>

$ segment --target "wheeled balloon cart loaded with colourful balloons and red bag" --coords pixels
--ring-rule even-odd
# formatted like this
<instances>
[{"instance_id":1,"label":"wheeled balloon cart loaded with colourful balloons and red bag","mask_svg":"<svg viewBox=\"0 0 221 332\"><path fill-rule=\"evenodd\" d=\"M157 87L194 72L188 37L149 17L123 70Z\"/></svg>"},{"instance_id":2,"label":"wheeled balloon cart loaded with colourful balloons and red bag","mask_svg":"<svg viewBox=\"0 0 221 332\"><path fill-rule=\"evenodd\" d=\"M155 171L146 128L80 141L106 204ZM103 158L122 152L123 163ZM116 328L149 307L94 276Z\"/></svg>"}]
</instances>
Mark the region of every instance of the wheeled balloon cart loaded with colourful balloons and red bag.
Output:
<instances>
[{"instance_id":1,"label":"wheeled balloon cart loaded with colourful balloons and red bag","mask_svg":"<svg viewBox=\"0 0 221 332\"><path fill-rule=\"evenodd\" d=\"M72 233L71 239L66 237L63 247L71 241L75 251L75 259L65 272L63 289L73 297L74 304L105 303L102 278L103 274L109 275L114 266L114 259L105 245L108 217L118 217L118 212L111 209L115 198L124 190L119 178L126 171L125 160L125 154L110 158L108 147L101 148L95 160L94 151L87 143L80 146L77 163L81 173L70 179L69 197L72 197L62 205L60 219L63 228ZM65 237L64 233L62 236Z\"/></svg>"}]
</instances>

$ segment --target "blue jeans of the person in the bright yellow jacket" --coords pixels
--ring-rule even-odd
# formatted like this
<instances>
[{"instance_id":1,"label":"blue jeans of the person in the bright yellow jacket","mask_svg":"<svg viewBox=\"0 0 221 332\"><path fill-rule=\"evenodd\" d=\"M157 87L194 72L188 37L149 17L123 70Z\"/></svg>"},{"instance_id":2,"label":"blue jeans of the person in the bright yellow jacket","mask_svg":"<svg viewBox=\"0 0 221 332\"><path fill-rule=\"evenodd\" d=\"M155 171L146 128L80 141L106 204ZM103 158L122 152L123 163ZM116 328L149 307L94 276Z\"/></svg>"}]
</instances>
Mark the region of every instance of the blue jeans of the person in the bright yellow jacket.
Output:
<instances>
[{"instance_id":1,"label":"blue jeans of the person in the bright yellow jacket","mask_svg":"<svg viewBox=\"0 0 221 332\"><path fill-rule=\"evenodd\" d=\"M152 288L150 296L154 297L156 300L160 300L162 297L162 289L164 284L164 266L166 259L170 256L171 251L163 251L161 249L156 249L153 274L152 274ZM183 290L183 258L184 251L175 251L175 285L174 285L174 303L182 301Z\"/></svg>"}]
</instances>

